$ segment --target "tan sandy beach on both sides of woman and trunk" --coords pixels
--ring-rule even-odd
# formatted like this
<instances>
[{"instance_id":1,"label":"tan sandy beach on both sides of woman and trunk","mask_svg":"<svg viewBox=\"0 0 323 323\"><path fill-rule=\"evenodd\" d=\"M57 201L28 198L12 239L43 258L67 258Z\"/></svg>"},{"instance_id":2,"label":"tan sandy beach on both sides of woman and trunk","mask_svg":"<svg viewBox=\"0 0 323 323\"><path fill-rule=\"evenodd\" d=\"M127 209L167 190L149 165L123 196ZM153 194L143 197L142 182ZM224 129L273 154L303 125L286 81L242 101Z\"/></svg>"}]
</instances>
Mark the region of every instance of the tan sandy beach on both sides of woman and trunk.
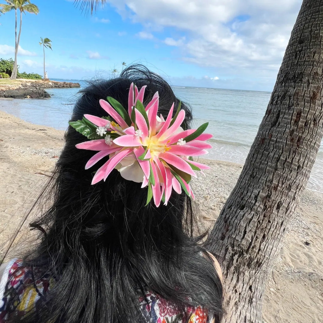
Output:
<instances>
[{"instance_id":1,"label":"tan sandy beach on both sides of woman and trunk","mask_svg":"<svg viewBox=\"0 0 323 323\"><path fill-rule=\"evenodd\" d=\"M47 182L63 146L63 131L0 111L0 254L37 192ZM204 226L212 226L242 166L207 160L206 178L193 182ZM287 232L264 297L263 321L323 322L323 194L305 190ZM19 234L26 246L27 223ZM30 235L30 233L29 233ZM20 247L18 248L18 250Z\"/></svg>"}]
</instances>

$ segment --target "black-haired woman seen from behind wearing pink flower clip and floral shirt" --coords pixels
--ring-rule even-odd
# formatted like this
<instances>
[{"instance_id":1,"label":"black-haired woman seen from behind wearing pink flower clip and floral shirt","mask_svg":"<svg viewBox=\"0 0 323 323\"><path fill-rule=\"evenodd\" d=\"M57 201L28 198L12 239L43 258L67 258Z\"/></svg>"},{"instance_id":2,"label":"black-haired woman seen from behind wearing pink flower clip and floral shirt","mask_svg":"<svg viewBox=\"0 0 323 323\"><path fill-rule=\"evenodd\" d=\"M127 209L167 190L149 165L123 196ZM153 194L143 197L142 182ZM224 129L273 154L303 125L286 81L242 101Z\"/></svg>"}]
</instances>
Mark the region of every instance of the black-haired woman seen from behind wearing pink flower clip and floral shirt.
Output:
<instances>
[{"instance_id":1,"label":"black-haired woman seen from behind wearing pink flower clip and floral shirt","mask_svg":"<svg viewBox=\"0 0 323 323\"><path fill-rule=\"evenodd\" d=\"M193 236L188 182L203 165L180 155L205 152L209 137L143 66L81 94L42 193L50 207L30 224L38 245L2 265L0 322L220 322L216 260Z\"/></svg>"}]
</instances>

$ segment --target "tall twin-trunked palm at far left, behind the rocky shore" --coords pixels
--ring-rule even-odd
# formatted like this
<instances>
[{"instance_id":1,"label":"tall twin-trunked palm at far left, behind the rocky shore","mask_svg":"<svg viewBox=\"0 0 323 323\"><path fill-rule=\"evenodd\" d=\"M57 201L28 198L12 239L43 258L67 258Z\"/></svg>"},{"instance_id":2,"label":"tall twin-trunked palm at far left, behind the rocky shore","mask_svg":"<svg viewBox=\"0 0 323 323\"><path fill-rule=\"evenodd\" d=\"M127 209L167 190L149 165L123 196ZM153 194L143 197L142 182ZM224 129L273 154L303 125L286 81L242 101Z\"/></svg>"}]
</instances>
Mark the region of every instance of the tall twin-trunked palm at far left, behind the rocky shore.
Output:
<instances>
[{"instance_id":1,"label":"tall twin-trunked palm at far left, behind the rocky shore","mask_svg":"<svg viewBox=\"0 0 323 323\"><path fill-rule=\"evenodd\" d=\"M0 5L0 9L3 13L9 12L11 10L15 10L15 17L16 17L16 25L15 25L15 61L14 61L14 68L12 70L11 79L17 78L17 55L18 55L18 47L20 42L20 35L21 35L21 25L22 25L22 13L29 12L31 14L37 15L39 12L38 7L30 3L30 0L5 0L7 3L6 5ZM19 26L19 33L17 38L17 10L20 11L20 26Z\"/></svg>"}]
</instances>

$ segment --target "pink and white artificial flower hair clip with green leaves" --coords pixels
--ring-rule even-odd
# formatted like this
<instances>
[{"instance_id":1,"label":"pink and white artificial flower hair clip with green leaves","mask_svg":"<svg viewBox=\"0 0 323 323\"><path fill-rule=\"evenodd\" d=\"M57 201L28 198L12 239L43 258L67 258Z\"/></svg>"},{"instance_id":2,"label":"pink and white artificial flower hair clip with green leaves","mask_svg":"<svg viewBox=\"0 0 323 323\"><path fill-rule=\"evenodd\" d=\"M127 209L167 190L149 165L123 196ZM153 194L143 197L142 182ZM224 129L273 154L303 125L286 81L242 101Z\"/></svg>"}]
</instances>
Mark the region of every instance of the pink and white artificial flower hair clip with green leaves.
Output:
<instances>
[{"instance_id":1,"label":"pink and white artificial flower hair clip with green leaves","mask_svg":"<svg viewBox=\"0 0 323 323\"><path fill-rule=\"evenodd\" d=\"M191 156L206 154L206 149L212 148L205 142L212 135L203 133L208 122L198 129L183 130L185 111L181 103L173 118L174 104L166 120L162 115L158 117L158 92L144 107L145 89L143 86L138 91L137 86L130 85L128 111L117 100L107 97L108 102L101 99L100 106L109 117L85 114L82 120L69 122L92 139L77 144L76 148L98 151L85 169L109 155L109 160L96 171L92 184L105 181L117 169L126 180L142 182L142 188L148 185L146 205L152 198L157 207L161 201L167 205L172 189L178 194L183 189L194 199L189 182L192 176L196 177L195 171L210 167L193 161Z\"/></svg>"}]
</instances>

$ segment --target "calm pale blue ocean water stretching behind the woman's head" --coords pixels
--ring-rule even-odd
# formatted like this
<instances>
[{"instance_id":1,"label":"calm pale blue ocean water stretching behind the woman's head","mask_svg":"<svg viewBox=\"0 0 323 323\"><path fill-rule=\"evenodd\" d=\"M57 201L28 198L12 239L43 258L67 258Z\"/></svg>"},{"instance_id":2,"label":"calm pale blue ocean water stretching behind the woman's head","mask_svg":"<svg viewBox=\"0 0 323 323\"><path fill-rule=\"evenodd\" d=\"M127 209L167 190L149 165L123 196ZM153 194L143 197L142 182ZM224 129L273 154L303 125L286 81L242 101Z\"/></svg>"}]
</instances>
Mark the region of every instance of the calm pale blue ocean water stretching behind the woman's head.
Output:
<instances>
[{"instance_id":1,"label":"calm pale blue ocean water stretching behind the woman's head","mask_svg":"<svg viewBox=\"0 0 323 323\"><path fill-rule=\"evenodd\" d=\"M79 82L83 80L55 81ZM203 157L243 164L265 114L270 92L177 87L173 90L193 108L194 127L209 122L213 149ZM65 130L79 88L47 89L51 99L1 99L0 109L31 123ZM307 187L323 193L323 144Z\"/></svg>"}]
</instances>

